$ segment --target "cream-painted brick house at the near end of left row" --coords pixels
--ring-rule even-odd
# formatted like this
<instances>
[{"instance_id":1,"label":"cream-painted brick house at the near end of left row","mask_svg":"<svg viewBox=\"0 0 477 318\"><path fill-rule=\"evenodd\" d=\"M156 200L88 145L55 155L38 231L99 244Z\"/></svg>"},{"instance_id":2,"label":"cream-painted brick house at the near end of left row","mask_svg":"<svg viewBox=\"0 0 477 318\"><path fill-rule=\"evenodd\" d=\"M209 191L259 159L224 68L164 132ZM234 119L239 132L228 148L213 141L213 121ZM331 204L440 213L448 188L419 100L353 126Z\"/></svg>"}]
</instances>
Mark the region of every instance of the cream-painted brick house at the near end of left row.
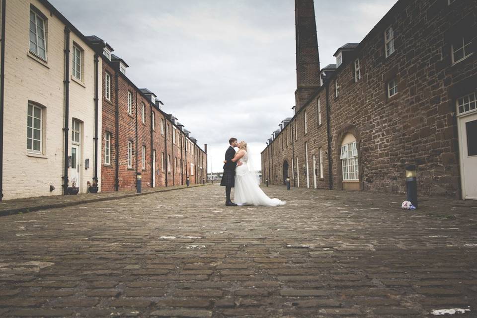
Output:
<instances>
[{"instance_id":1,"label":"cream-painted brick house at the near end of left row","mask_svg":"<svg viewBox=\"0 0 477 318\"><path fill-rule=\"evenodd\" d=\"M64 194L66 177L84 193L95 175L100 184L101 59L48 1L5 4L3 199Z\"/></svg>"}]
</instances>

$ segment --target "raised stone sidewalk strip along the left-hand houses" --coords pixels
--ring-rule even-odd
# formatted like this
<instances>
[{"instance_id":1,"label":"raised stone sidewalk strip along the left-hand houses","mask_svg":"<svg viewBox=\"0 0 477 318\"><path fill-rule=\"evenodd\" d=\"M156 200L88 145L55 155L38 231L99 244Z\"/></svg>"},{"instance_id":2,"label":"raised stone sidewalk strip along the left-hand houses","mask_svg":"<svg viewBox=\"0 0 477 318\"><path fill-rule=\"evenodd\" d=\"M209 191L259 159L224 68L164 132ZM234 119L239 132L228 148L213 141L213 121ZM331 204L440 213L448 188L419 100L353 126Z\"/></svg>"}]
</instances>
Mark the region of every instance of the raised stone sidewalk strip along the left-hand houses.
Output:
<instances>
[{"instance_id":1,"label":"raised stone sidewalk strip along the left-hand houses","mask_svg":"<svg viewBox=\"0 0 477 318\"><path fill-rule=\"evenodd\" d=\"M209 184L206 184L209 185ZM109 201L117 200L128 197L134 197L139 195L146 195L157 192L166 192L172 190L193 188L197 186L202 186L202 184L194 184L189 187L185 185L173 186L166 188L145 188L141 193L137 193L136 190L130 191L109 191L109 192L100 192L100 193L81 193L77 195L54 195L54 196L43 196L43 197L34 197L34 198L22 198L14 200L6 200L0 202L0 216L12 215L17 213L28 213L38 210L52 209L52 208L64 208L68 206L99 202L99 201Z\"/></svg>"}]
</instances>

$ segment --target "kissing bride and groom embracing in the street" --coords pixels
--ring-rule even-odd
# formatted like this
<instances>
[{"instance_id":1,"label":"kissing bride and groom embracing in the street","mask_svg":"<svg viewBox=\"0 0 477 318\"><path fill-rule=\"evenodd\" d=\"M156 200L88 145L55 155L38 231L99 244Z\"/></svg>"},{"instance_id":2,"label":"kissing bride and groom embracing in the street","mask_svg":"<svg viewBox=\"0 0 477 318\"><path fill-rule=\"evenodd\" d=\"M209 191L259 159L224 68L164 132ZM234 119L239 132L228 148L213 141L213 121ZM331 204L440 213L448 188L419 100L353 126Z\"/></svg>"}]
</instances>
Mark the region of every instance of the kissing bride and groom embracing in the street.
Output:
<instances>
[{"instance_id":1,"label":"kissing bride and groom embracing in the street","mask_svg":"<svg viewBox=\"0 0 477 318\"><path fill-rule=\"evenodd\" d=\"M227 206L237 205L263 205L277 206L284 205L286 202L279 199L270 199L260 189L260 178L257 171L253 170L252 159L247 143L238 142L237 138L229 140L230 147L225 153L224 174L220 185L225 186L227 195ZM239 148L236 153L234 147ZM230 199L232 188L235 187L235 202Z\"/></svg>"}]
</instances>

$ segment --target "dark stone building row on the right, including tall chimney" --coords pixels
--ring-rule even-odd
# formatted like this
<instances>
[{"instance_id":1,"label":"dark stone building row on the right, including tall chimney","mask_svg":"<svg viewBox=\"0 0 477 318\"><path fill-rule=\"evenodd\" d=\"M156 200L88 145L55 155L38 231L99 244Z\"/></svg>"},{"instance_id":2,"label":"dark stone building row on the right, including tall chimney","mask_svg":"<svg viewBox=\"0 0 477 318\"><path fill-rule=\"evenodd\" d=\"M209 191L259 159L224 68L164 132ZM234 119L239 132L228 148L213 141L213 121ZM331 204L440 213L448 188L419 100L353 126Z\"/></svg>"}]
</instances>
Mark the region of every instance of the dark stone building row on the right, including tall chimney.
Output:
<instances>
[{"instance_id":1,"label":"dark stone building row on the right, including tall chimney","mask_svg":"<svg viewBox=\"0 0 477 318\"><path fill-rule=\"evenodd\" d=\"M415 164L421 194L477 199L477 2L399 0L319 71L313 1L295 4L296 106L263 178L403 193Z\"/></svg>"}]
</instances>

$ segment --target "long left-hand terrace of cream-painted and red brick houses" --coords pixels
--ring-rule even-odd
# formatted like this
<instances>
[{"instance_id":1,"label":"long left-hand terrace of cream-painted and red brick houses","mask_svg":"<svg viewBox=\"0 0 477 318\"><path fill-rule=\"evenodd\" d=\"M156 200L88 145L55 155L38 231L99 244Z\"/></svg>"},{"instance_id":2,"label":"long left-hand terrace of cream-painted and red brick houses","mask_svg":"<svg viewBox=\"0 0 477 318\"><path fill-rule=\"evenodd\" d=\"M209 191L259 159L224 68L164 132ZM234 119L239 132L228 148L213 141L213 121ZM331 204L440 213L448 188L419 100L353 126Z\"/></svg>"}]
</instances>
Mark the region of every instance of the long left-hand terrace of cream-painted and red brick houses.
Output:
<instances>
[{"instance_id":1,"label":"long left-hand terrace of cream-painted and red brick houses","mask_svg":"<svg viewBox=\"0 0 477 318\"><path fill-rule=\"evenodd\" d=\"M207 146L47 0L1 1L0 200L192 184ZM26 21L26 22L25 22ZM104 117L104 120L102 120Z\"/></svg>"}]
</instances>

